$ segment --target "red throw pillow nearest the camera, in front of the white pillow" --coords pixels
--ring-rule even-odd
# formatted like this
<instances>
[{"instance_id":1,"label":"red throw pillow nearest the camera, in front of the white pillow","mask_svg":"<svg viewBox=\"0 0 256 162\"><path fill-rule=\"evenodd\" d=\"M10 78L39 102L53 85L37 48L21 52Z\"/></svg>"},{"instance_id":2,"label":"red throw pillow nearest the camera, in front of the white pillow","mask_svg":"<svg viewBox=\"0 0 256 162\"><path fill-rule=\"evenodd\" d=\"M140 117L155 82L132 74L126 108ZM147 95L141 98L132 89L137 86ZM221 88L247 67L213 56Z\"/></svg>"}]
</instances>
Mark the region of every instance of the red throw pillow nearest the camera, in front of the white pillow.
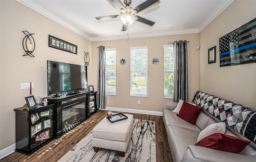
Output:
<instances>
[{"instance_id":1,"label":"red throw pillow nearest the camera, in front of the white pillow","mask_svg":"<svg viewBox=\"0 0 256 162\"><path fill-rule=\"evenodd\" d=\"M248 144L250 141L222 133L214 133L198 141L195 145L238 154Z\"/></svg>"}]
</instances>

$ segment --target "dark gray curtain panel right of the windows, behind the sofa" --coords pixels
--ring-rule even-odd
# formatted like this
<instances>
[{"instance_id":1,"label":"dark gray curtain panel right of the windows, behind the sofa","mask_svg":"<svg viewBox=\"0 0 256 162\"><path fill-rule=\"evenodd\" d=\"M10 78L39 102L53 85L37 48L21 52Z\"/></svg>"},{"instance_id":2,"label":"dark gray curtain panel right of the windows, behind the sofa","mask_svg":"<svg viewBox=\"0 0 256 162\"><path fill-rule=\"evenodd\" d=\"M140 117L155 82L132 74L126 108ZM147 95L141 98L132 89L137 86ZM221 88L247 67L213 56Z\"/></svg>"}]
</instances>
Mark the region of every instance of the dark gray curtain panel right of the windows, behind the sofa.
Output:
<instances>
[{"instance_id":1,"label":"dark gray curtain panel right of the windows, behind the sofa","mask_svg":"<svg viewBox=\"0 0 256 162\"><path fill-rule=\"evenodd\" d=\"M173 43L174 49L174 102L188 101L187 41Z\"/></svg>"}]
</instances>

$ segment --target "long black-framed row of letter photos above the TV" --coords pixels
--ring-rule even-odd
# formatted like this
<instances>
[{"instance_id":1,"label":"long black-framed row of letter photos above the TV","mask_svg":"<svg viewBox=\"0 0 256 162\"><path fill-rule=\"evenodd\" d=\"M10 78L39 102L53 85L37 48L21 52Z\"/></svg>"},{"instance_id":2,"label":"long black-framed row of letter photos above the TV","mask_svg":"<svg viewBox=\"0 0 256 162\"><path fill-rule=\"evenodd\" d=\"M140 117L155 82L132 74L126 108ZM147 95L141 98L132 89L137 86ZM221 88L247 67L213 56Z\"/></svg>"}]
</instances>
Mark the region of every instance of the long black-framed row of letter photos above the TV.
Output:
<instances>
[{"instance_id":1,"label":"long black-framed row of letter photos above the TV","mask_svg":"<svg viewBox=\"0 0 256 162\"><path fill-rule=\"evenodd\" d=\"M49 35L49 38L48 38L48 46L49 47L52 47L52 48L56 48L58 50L63 50L63 51L66 51L66 52L70 52L70 53L73 53L73 54L77 54L77 46L72 44L72 43L69 43L69 42L66 42L62 39L59 39L59 38L56 38L54 36L51 36Z\"/></svg>"}]
</instances>

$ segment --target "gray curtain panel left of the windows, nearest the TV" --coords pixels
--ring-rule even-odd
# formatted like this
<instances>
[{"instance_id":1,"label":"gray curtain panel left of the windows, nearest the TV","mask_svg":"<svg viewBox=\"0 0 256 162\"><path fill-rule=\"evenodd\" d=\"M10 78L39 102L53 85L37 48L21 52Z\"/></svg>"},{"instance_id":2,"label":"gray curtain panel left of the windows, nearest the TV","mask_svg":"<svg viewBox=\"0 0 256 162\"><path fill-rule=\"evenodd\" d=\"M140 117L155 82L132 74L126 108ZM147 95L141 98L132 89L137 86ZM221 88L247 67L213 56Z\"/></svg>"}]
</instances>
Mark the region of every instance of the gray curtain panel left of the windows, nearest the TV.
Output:
<instances>
[{"instance_id":1,"label":"gray curtain panel left of the windows, nearest the TV","mask_svg":"<svg viewBox=\"0 0 256 162\"><path fill-rule=\"evenodd\" d=\"M105 109L106 108L106 87L105 87L105 72L106 72L106 64L105 64L105 55L106 50L105 46L98 46L99 50L99 62L98 62L98 108Z\"/></svg>"}]
</instances>

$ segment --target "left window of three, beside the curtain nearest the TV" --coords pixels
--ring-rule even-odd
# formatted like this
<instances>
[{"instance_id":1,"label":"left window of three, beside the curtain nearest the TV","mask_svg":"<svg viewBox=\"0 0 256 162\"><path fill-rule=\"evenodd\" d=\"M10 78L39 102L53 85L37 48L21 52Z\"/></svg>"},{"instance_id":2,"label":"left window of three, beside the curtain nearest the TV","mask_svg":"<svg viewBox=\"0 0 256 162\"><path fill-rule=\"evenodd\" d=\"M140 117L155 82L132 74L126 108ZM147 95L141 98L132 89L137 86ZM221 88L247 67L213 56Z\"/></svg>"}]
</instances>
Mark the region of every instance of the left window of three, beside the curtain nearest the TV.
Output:
<instances>
[{"instance_id":1,"label":"left window of three, beside the curtain nearest the TV","mask_svg":"<svg viewBox=\"0 0 256 162\"><path fill-rule=\"evenodd\" d=\"M106 94L116 95L116 48L106 49Z\"/></svg>"}]
</instances>

